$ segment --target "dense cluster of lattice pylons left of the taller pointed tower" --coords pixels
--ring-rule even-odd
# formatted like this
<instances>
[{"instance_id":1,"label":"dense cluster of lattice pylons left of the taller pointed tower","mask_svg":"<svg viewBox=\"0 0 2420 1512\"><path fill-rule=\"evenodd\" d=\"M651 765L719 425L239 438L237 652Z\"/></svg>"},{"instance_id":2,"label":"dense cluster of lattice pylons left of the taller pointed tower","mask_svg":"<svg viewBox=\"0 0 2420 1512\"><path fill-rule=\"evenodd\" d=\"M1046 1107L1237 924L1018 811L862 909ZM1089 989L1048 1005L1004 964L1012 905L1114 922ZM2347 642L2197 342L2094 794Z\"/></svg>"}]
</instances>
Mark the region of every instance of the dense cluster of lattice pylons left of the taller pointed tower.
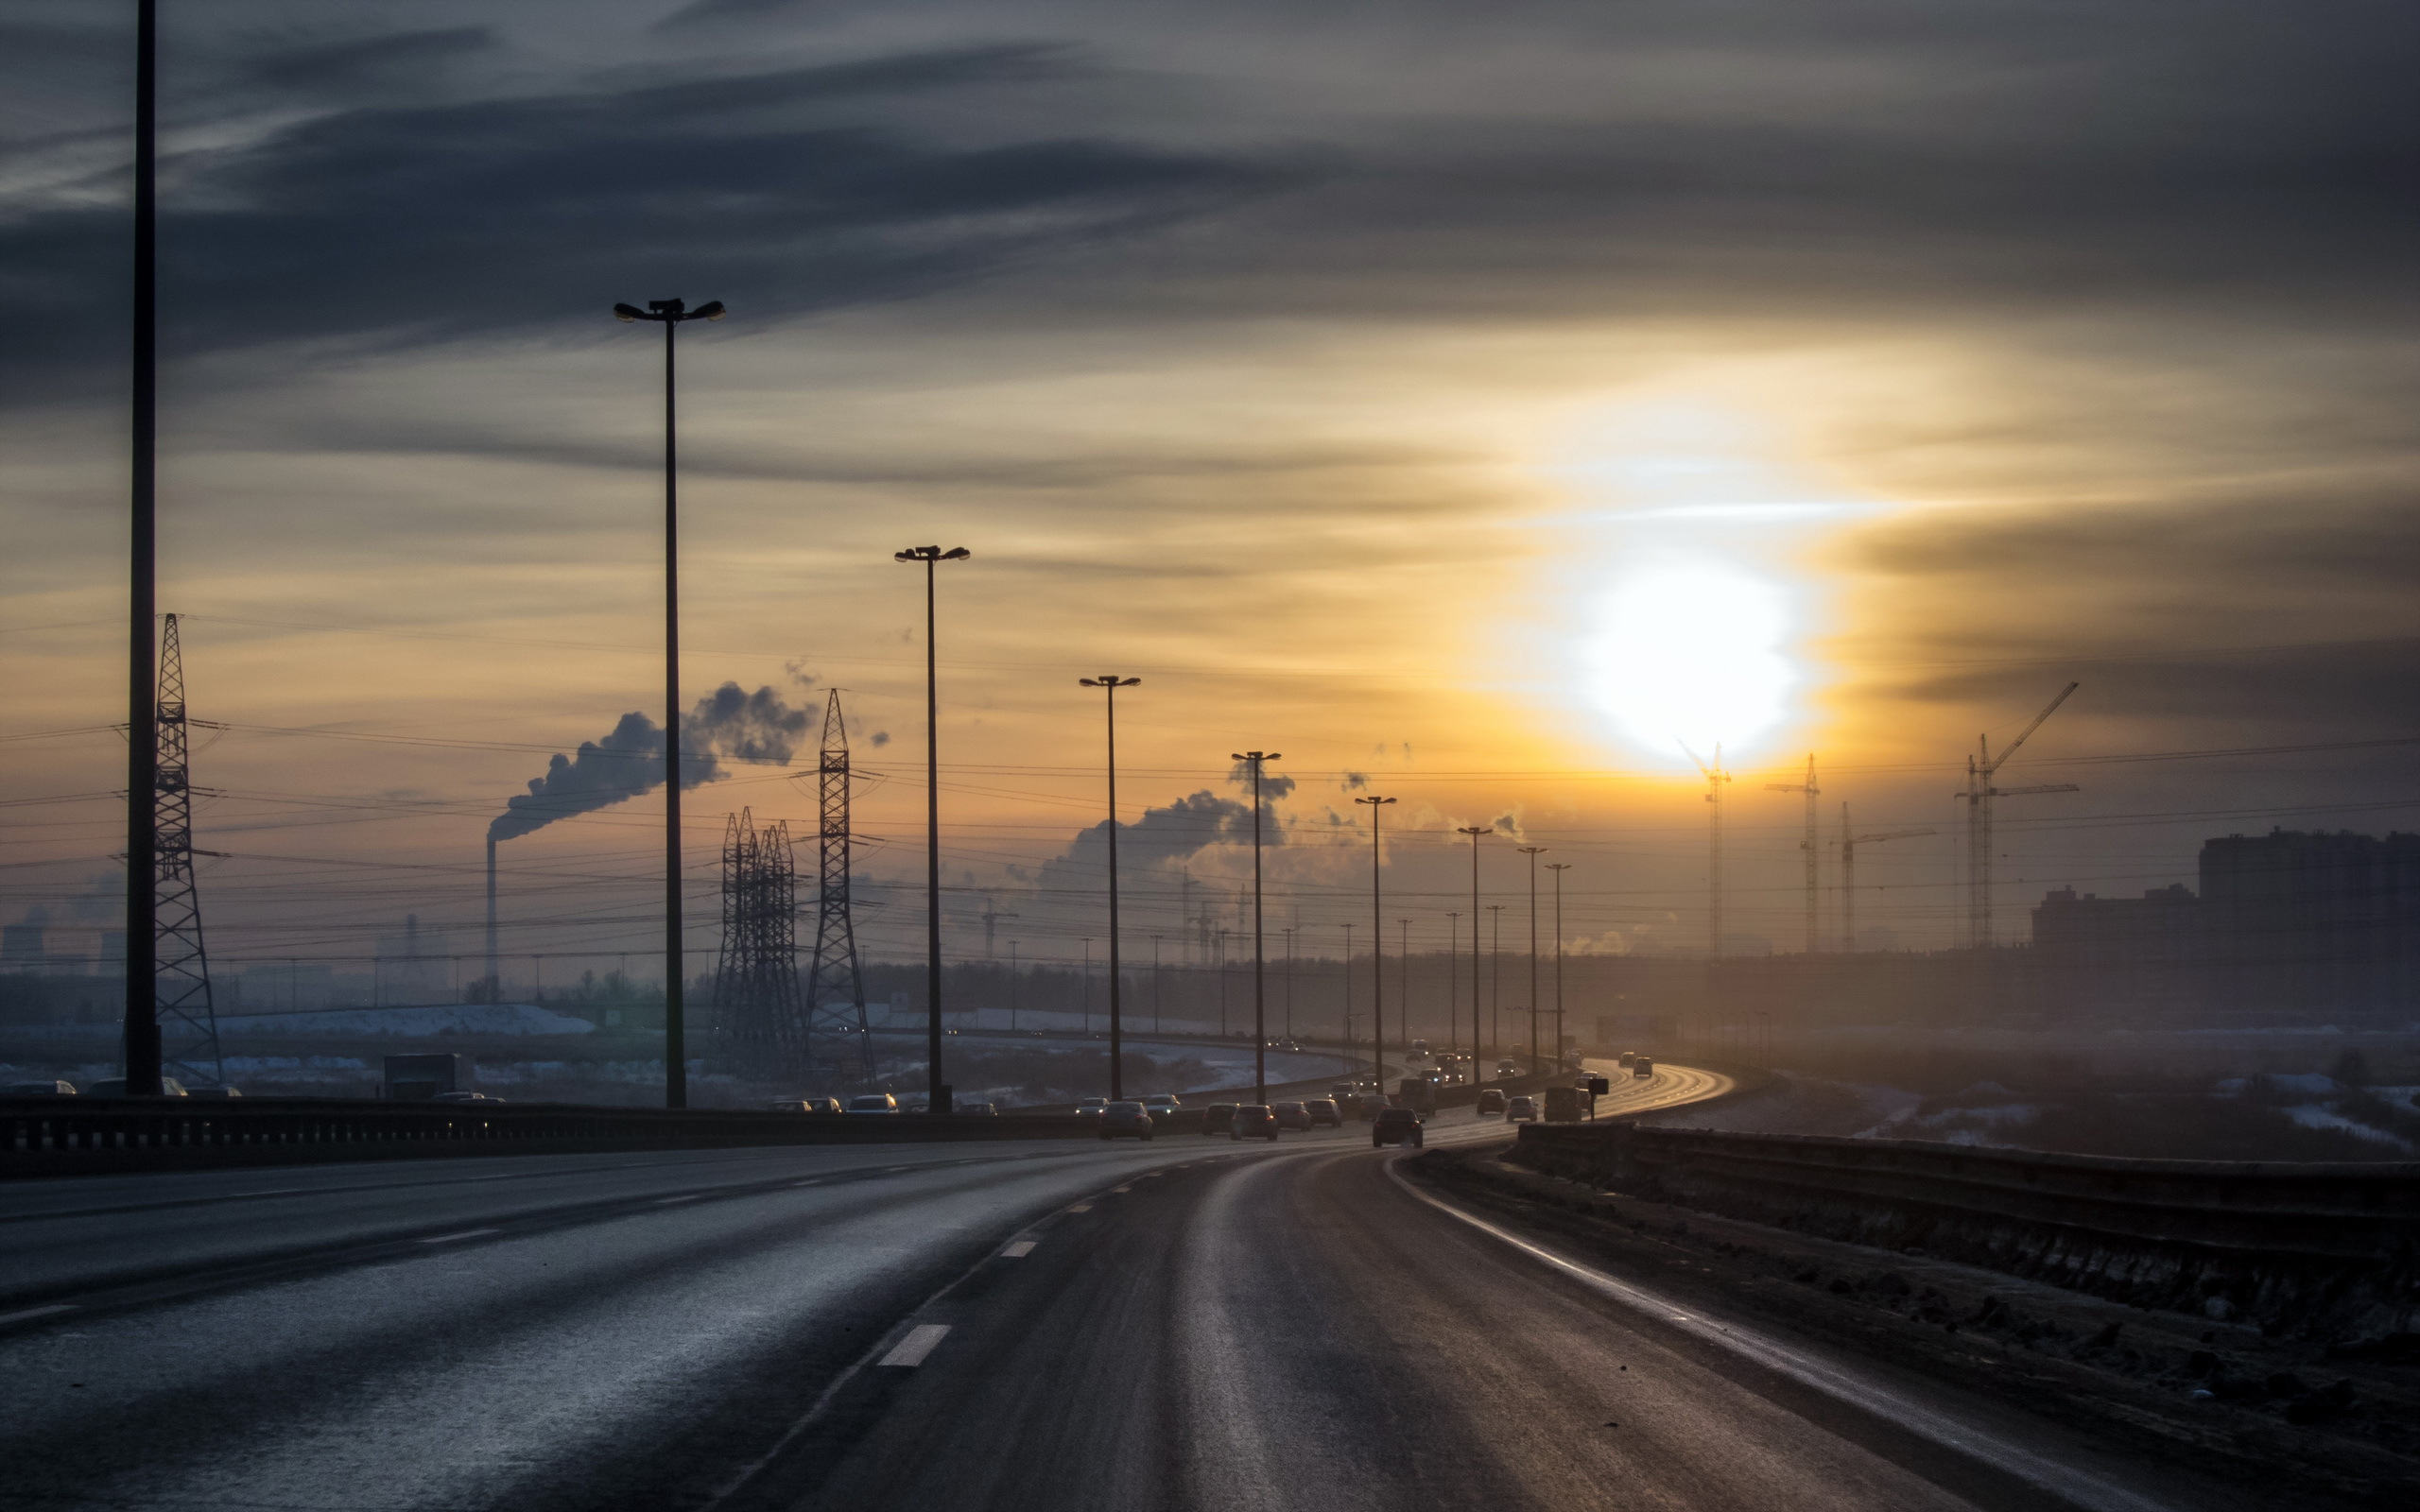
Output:
<instances>
[{"instance_id":1,"label":"dense cluster of lattice pylons left of the taller pointed tower","mask_svg":"<svg viewBox=\"0 0 2420 1512\"><path fill-rule=\"evenodd\" d=\"M799 871L789 825L757 827L738 810L724 827L724 953L714 968L716 1050L750 1067L803 1069L799 1016Z\"/></svg>"}]
</instances>

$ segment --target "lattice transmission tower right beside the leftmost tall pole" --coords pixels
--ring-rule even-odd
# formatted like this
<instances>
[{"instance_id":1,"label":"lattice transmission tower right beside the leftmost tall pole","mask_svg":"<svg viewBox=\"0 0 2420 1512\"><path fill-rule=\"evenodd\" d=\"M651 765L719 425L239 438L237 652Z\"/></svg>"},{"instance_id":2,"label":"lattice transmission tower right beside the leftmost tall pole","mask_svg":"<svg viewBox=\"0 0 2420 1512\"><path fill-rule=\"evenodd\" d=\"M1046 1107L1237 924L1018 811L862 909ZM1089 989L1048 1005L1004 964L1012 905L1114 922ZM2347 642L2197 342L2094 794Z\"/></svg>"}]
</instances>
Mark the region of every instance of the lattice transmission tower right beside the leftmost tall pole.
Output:
<instances>
[{"instance_id":1,"label":"lattice transmission tower right beside the leftmost tall pole","mask_svg":"<svg viewBox=\"0 0 2420 1512\"><path fill-rule=\"evenodd\" d=\"M194 786L184 719L184 646L177 617L160 631L160 779L152 813L160 823L152 876L155 960L160 965L160 1072L191 1086L225 1086L218 1052L218 1009L211 1002L211 956L201 943L201 893L194 885Z\"/></svg>"}]
</instances>

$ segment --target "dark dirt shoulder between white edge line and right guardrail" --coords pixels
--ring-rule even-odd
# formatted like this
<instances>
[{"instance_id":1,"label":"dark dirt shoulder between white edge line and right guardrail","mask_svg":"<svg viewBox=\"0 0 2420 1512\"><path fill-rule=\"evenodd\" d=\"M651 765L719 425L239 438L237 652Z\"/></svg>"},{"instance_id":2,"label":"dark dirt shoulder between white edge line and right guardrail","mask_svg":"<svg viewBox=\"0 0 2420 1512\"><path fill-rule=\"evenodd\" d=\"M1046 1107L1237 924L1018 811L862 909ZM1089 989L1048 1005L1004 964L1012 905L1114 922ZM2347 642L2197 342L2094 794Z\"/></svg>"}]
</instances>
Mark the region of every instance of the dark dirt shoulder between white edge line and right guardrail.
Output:
<instances>
[{"instance_id":1,"label":"dark dirt shoulder between white edge line and right guardrail","mask_svg":"<svg viewBox=\"0 0 2420 1512\"><path fill-rule=\"evenodd\" d=\"M1706 1309L1921 1369L2280 1510L2420 1497L2420 1338L2321 1345L1810 1239L1437 1149L1416 1176Z\"/></svg>"}]
</instances>

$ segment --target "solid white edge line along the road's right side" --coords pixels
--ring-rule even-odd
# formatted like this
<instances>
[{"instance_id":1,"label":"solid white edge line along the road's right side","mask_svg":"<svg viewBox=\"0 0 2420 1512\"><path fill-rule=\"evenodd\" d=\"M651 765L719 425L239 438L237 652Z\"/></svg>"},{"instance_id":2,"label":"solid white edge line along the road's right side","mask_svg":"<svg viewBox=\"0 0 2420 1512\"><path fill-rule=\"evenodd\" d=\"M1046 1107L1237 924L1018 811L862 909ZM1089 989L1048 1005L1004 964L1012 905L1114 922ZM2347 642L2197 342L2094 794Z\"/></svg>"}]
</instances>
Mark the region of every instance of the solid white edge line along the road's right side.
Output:
<instances>
[{"instance_id":1,"label":"solid white edge line along the road's right side","mask_svg":"<svg viewBox=\"0 0 2420 1512\"><path fill-rule=\"evenodd\" d=\"M1825 1360L1813 1360L1808 1355L1800 1355L1798 1350L1791 1350L1781 1340L1767 1338L1752 1328L1745 1328L1740 1323L1716 1323L1711 1318L1684 1314L1675 1302L1658 1297L1648 1287L1614 1280L1612 1275L1604 1275L1595 1265L1583 1265L1580 1260L1561 1256L1544 1243L1522 1239L1520 1234L1500 1229L1474 1212L1464 1212L1462 1207L1454 1207L1442 1198L1423 1193L1411 1181L1406 1181L1404 1173L1396 1171L1394 1166L1396 1161L1387 1161L1387 1176L1399 1188L1404 1188L1421 1202L1428 1202L1437 1212L1479 1229L1481 1234L1496 1239L1498 1243L1517 1248L1520 1253L1529 1256L1532 1260L1539 1260L1551 1270L1561 1270L1563 1275L1578 1280L1583 1287L1597 1292L1600 1297L1609 1297L1612 1302L1634 1306L1646 1314L1658 1314L1670 1326L1704 1343L1721 1345L1733 1355L1754 1360L1757 1364L1774 1369L1798 1381L1800 1386L1810 1386L1815 1391L1822 1391L1825 1396L1863 1408L1866 1413L1895 1422L1914 1432L1917 1437L1931 1439L1934 1444L1980 1459L2009 1476L2016 1476L2018 1481L2026 1481L2028 1485L2040 1485L2052 1495L2067 1497L2079 1507L2091 1507L2093 1512L2171 1512L2166 1502L2139 1497L2132 1490L2110 1485L2108 1481L2069 1468L2052 1459L2042 1459L2030 1449L2018 1449L2016 1444L2004 1444L1999 1439L1984 1437L1980 1430L1958 1422L1946 1413L1936 1413L1934 1408L1926 1408L1924 1403L1909 1396L1900 1396L1888 1386L1861 1381L1846 1369L1839 1369Z\"/></svg>"}]
</instances>

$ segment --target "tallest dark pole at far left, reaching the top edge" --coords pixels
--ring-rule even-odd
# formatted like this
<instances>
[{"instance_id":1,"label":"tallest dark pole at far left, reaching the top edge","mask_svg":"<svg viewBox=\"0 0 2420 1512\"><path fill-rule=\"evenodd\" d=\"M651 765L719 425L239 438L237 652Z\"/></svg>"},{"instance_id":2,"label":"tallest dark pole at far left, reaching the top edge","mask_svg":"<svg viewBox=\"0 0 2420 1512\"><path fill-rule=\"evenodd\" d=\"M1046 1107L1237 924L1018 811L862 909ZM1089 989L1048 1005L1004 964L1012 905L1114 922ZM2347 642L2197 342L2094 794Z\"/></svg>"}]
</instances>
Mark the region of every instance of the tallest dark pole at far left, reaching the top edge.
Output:
<instances>
[{"instance_id":1,"label":"tallest dark pole at far left, reaching the top edge","mask_svg":"<svg viewBox=\"0 0 2420 1512\"><path fill-rule=\"evenodd\" d=\"M126 1091L160 1093L160 0L136 5L136 285L126 595Z\"/></svg>"}]
</instances>

